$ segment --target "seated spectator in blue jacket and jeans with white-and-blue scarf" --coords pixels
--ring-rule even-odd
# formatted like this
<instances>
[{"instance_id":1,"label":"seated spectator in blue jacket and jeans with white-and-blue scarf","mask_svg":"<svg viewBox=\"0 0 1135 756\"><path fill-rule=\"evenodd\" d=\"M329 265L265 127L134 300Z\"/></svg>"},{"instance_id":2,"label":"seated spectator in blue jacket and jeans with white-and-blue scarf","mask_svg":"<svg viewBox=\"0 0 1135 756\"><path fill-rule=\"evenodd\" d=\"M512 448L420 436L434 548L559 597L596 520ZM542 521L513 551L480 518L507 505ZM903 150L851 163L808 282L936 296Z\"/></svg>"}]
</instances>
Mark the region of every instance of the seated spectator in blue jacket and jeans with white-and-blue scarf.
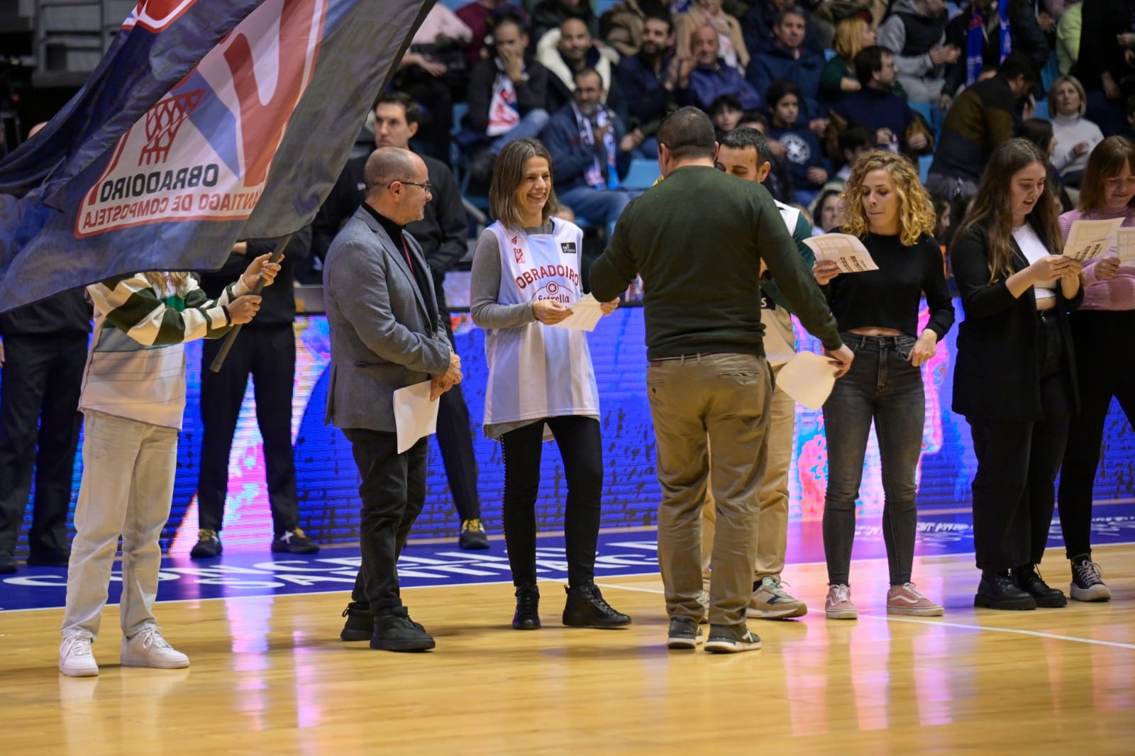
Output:
<instances>
[{"instance_id":1,"label":"seated spectator in blue jacket and jeans with white-and-blue scarf","mask_svg":"<svg viewBox=\"0 0 1135 756\"><path fill-rule=\"evenodd\" d=\"M556 195L577 217L606 226L611 238L623 208L640 194L619 182L642 134L627 133L619 116L603 104L605 94L594 68L577 73L572 102L552 116L541 141L552 154Z\"/></svg>"}]
</instances>

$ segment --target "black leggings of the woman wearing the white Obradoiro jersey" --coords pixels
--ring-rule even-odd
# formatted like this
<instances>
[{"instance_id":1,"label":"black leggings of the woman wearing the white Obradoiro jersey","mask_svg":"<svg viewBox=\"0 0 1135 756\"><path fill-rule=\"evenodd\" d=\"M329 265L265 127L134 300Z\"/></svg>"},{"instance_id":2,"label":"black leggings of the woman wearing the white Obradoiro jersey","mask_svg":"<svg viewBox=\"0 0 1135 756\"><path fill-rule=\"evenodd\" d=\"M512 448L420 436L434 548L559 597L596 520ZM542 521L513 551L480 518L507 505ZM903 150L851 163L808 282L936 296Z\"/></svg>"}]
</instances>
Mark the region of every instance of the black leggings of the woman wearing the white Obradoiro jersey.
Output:
<instances>
[{"instance_id":1,"label":"black leggings of the woman wearing the white Obradoiro jersey","mask_svg":"<svg viewBox=\"0 0 1135 756\"><path fill-rule=\"evenodd\" d=\"M536 582L536 496L540 488L544 425L555 436L568 479L564 544L568 582L595 579L603 495L603 438L595 418L545 418L501 437L504 455L504 535L515 586Z\"/></svg>"}]
</instances>

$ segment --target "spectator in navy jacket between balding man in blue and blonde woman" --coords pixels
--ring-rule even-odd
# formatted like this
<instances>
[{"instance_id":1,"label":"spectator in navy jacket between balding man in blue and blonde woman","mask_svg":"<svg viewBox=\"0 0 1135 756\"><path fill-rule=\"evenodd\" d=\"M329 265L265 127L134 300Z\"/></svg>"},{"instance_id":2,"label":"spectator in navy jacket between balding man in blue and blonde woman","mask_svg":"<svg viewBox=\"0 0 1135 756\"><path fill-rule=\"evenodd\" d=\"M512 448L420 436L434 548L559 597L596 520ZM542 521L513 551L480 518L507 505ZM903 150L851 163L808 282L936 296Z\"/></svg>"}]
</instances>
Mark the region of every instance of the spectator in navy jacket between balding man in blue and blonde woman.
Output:
<instances>
[{"instance_id":1,"label":"spectator in navy jacket between balding man in blue and blonde woman","mask_svg":"<svg viewBox=\"0 0 1135 756\"><path fill-rule=\"evenodd\" d=\"M779 78L796 82L800 87L800 115L810 120L823 115L816 98L819 95L824 57L809 52L804 47L807 28L807 16L802 8L788 6L781 10L773 26L774 43L753 56L745 72L745 81L757 92L767 92Z\"/></svg>"}]
</instances>

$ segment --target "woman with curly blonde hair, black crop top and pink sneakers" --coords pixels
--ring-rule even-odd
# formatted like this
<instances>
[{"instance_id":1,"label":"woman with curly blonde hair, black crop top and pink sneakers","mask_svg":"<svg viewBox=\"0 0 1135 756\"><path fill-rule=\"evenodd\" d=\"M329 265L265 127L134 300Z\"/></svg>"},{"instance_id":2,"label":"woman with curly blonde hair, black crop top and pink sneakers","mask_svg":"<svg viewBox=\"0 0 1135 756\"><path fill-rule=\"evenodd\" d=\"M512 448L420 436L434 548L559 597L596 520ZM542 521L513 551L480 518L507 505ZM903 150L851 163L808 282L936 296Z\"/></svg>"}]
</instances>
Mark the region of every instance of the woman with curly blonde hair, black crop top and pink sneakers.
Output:
<instances>
[{"instance_id":1,"label":"woman with curly blonde hair, black crop top and pink sneakers","mask_svg":"<svg viewBox=\"0 0 1135 756\"><path fill-rule=\"evenodd\" d=\"M848 573L855 538L855 503L872 421L883 472L883 540L890 568L888 614L938 616L942 607L910 582L925 398L920 367L953 325L942 252L931 234L936 216L918 171L906 158L874 152L852 168L843 193L840 233L857 236L878 270L840 275L834 262L817 261L840 337L855 352L851 369L824 403L827 494L824 554L831 620L854 620ZM930 320L919 331L925 292Z\"/></svg>"}]
</instances>

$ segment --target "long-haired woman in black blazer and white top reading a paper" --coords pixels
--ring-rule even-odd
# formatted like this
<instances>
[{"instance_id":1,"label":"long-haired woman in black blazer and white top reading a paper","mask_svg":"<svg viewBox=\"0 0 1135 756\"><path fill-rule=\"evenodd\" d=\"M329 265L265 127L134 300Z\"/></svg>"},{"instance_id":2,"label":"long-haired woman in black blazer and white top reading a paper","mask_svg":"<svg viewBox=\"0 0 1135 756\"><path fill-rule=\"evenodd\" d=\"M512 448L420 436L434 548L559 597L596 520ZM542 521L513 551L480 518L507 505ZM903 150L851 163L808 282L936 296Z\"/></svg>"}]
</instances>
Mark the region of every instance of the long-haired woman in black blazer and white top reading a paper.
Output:
<instances>
[{"instance_id":1,"label":"long-haired woman in black blazer and white top reading a paper","mask_svg":"<svg viewBox=\"0 0 1135 756\"><path fill-rule=\"evenodd\" d=\"M966 319L958 328L953 411L977 455L975 606L1063 606L1036 571L1048 541L1068 421L1077 404L1069 310L1081 266L1060 250L1045 157L1010 140L993 153L950 258Z\"/></svg>"}]
</instances>

